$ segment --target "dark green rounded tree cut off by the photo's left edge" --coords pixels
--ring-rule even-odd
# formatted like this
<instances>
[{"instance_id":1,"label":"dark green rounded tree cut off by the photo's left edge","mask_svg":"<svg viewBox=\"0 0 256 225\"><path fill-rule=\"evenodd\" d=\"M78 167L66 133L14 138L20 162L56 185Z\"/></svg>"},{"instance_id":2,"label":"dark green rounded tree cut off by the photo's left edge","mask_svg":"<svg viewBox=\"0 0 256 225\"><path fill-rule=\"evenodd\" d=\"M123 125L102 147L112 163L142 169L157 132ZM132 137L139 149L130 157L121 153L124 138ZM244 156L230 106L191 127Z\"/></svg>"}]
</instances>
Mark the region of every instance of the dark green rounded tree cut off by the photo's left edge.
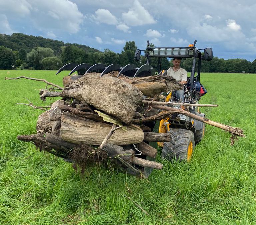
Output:
<instances>
[{"instance_id":1,"label":"dark green rounded tree cut off by the photo's left edge","mask_svg":"<svg viewBox=\"0 0 256 225\"><path fill-rule=\"evenodd\" d=\"M0 69L11 69L15 64L15 54L11 49L0 46Z\"/></svg>"}]
</instances>

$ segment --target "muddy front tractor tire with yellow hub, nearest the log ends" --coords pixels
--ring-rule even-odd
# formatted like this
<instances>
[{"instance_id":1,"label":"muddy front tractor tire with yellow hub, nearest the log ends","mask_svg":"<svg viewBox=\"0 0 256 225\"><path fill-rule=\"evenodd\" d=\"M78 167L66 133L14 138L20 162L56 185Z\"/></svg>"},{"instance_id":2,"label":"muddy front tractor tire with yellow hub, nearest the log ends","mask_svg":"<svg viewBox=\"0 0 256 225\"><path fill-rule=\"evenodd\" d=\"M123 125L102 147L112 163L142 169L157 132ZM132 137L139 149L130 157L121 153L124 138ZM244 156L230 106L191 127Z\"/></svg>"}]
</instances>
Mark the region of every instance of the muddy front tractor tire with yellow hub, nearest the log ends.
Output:
<instances>
[{"instance_id":1,"label":"muddy front tractor tire with yellow hub, nearest the log ends","mask_svg":"<svg viewBox=\"0 0 256 225\"><path fill-rule=\"evenodd\" d=\"M194 133L185 129L170 129L171 141L165 142L162 149L162 157L168 160L187 161L195 148Z\"/></svg>"}]
</instances>

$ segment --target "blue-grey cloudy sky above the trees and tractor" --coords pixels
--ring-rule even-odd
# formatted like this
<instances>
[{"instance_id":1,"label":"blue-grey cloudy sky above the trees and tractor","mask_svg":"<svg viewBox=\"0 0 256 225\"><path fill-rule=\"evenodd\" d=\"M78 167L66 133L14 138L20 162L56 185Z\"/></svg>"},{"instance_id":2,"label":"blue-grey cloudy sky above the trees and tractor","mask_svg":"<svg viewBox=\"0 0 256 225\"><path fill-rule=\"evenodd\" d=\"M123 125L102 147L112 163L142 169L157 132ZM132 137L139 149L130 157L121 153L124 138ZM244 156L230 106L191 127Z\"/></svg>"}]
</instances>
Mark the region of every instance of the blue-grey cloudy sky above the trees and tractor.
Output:
<instances>
[{"instance_id":1,"label":"blue-grey cloudy sky above the trees and tractor","mask_svg":"<svg viewBox=\"0 0 256 225\"><path fill-rule=\"evenodd\" d=\"M24 33L120 53L127 41L145 49L213 49L218 58L256 59L253 0L0 0L0 33Z\"/></svg>"}]
</instances>

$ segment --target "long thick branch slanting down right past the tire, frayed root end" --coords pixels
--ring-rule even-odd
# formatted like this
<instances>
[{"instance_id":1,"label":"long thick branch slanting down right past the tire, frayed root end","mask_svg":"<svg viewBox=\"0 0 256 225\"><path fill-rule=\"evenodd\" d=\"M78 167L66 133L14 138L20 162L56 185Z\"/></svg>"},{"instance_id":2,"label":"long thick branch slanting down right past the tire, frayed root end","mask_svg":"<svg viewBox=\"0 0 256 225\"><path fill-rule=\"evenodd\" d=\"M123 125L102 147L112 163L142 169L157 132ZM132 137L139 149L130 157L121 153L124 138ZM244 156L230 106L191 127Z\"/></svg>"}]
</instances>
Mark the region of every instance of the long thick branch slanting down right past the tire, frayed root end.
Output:
<instances>
[{"instance_id":1,"label":"long thick branch slanting down right past the tire, frayed root end","mask_svg":"<svg viewBox=\"0 0 256 225\"><path fill-rule=\"evenodd\" d=\"M156 109L162 109L162 110L170 110L170 111L175 111L175 112L178 111L178 113L180 113L182 115L189 116L190 118L193 118L195 120L198 120L198 121L201 121L203 123L206 123L206 124L212 125L214 127L218 127L218 128L223 129L225 131L228 131L232 135L237 135L237 136L240 136L240 137L245 137L245 135L243 134L243 130L240 129L240 128L231 127L231 126L227 126L227 125L222 124L222 123L214 122L212 120L209 120L207 118L195 115L193 113L187 112L187 111L182 110L182 109L174 109L174 108L171 108L171 107L160 106L160 105L154 105L153 107L156 108Z\"/></svg>"}]
</instances>

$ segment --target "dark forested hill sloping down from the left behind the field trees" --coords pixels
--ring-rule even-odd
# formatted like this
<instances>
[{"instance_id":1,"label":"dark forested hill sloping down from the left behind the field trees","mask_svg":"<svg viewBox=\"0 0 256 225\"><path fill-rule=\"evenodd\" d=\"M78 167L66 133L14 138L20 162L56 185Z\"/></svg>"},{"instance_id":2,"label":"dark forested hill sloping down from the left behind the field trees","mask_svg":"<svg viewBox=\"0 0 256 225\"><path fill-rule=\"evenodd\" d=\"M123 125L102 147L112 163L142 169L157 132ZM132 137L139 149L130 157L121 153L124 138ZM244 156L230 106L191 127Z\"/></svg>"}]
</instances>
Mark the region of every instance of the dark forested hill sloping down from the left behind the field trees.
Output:
<instances>
[{"instance_id":1,"label":"dark forested hill sloping down from the left behind the field trees","mask_svg":"<svg viewBox=\"0 0 256 225\"><path fill-rule=\"evenodd\" d=\"M64 43L63 41L52 40L40 36L35 37L22 33L13 33L12 35L0 34L0 46L1 45L10 48L13 51L19 51L19 49L23 48L26 52L30 52L34 47L51 48L54 51L54 55L60 55L61 47L69 45L77 46L87 53L100 52L99 50L90 48L86 45Z\"/></svg>"}]
</instances>

